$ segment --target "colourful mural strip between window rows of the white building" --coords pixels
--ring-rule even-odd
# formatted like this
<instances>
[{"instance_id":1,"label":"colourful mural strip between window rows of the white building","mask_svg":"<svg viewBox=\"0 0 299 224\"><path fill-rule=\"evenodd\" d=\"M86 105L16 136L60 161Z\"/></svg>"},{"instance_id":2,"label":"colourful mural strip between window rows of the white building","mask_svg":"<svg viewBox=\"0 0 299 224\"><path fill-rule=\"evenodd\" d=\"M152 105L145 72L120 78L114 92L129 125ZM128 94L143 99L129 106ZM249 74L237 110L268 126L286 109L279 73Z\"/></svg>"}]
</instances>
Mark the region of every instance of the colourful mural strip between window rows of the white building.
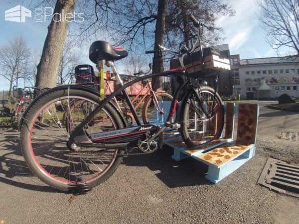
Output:
<instances>
[{"instance_id":1,"label":"colourful mural strip between window rows of the white building","mask_svg":"<svg viewBox=\"0 0 299 224\"><path fill-rule=\"evenodd\" d=\"M245 79L245 82L246 85L258 85L262 84L262 79L265 79L267 84L299 83L299 76L261 77L254 79L247 78Z\"/></svg>"}]
</instances>

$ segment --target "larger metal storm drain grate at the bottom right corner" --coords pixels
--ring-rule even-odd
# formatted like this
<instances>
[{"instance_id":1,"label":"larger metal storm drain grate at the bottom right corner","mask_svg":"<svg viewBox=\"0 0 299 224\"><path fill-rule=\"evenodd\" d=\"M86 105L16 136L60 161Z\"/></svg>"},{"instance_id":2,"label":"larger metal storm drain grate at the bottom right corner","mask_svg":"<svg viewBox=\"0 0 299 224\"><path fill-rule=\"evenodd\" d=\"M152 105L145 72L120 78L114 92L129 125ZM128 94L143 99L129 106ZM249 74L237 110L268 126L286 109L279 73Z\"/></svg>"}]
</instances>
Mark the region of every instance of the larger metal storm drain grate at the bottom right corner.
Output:
<instances>
[{"instance_id":1,"label":"larger metal storm drain grate at the bottom right corner","mask_svg":"<svg viewBox=\"0 0 299 224\"><path fill-rule=\"evenodd\" d=\"M269 158L258 183L275 191L299 197L299 166Z\"/></svg>"}]
</instances>

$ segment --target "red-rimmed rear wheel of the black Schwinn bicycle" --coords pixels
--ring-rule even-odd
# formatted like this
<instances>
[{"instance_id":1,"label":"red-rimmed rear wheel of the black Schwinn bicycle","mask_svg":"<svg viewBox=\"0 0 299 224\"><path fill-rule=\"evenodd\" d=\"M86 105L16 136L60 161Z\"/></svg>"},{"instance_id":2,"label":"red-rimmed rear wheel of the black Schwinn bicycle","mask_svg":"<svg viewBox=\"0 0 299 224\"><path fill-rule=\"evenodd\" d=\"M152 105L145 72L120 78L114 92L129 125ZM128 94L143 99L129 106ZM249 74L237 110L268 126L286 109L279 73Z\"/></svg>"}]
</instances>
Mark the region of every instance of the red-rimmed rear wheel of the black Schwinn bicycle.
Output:
<instances>
[{"instance_id":1,"label":"red-rimmed rear wheel of the black Schwinn bicycle","mask_svg":"<svg viewBox=\"0 0 299 224\"><path fill-rule=\"evenodd\" d=\"M67 146L69 133L99 103L83 90L53 90L29 108L21 128L21 149L31 171L49 186L68 191L76 182L94 187L109 178L122 161L123 149ZM71 109L72 108L72 109ZM123 128L119 114L106 105L85 127L88 134Z\"/></svg>"}]
</instances>

